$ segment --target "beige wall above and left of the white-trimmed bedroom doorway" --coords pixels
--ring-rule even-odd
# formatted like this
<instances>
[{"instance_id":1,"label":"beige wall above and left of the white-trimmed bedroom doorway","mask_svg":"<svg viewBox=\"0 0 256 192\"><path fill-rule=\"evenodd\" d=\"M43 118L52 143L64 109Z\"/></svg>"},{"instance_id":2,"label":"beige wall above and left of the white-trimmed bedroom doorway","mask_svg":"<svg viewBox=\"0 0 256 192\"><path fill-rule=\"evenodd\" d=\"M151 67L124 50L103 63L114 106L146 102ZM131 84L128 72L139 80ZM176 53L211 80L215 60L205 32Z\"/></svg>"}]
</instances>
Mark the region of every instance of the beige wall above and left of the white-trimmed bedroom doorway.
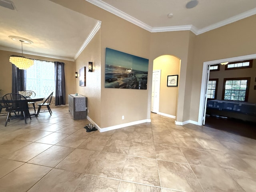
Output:
<instances>
[{"instance_id":1,"label":"beige wall above and left of the white-trimmed bedroom doorway","mask_svg":"<svg viewBox=\"0 0 256 192\"><path fill-rule=\"evenodd\" d=\"M203 62L256 53L256 15L196 36L190 120L197 121Z\"/></svg>"}]
</instances>

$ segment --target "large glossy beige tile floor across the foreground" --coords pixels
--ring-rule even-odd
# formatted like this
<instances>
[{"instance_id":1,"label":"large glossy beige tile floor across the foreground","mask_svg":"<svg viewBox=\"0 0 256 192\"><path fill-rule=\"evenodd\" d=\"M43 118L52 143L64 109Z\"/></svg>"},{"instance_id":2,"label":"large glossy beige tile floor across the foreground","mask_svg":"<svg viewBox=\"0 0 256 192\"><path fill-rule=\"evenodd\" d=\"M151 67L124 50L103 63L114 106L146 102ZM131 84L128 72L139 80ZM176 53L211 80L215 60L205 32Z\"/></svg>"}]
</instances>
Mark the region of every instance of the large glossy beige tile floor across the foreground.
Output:
<instances>
[{"instance_id":1,"label":"large glossy beige tile floor across the foreground","mask_svg":"<svg viewBox=\"0 0 256 192\"><path fill-rule=\"evenodd\" d=\"M256 191L256 140L157 114L88 133L68 107L52 111L0 117L1 192Z\"/></svg>"}]
</instances>

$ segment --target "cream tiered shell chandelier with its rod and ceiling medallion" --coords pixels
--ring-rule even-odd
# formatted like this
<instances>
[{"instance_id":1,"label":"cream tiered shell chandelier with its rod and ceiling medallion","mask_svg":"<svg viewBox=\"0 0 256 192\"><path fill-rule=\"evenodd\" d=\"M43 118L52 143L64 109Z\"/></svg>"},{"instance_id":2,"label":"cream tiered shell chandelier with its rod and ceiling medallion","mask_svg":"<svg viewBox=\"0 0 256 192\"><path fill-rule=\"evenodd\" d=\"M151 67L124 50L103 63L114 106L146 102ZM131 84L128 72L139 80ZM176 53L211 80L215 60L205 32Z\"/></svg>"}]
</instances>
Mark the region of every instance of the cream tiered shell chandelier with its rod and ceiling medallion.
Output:
<instances>
[{"instance_id":1,"label":"cream tiered shell chandelier with its rod and ceiling medallion","mask_svg":"<svg viewBox=\"0 0 256 192\"><path fill-rule=\"evenodd\" d=\"M34 64L34 60L25 58L23 56L23 46L22 46L23 42L27 43L28 41L26 41L26 39L24 41L24 38L19 38L15 36L9 36L9 37L14 41L21 42L21 52L22 52L22 56L11 55L9 61L19 69L26 70L30 68ZM31 44L31 41L29 41L29 43L27 44Z\"/></svg>"}]
</instances>

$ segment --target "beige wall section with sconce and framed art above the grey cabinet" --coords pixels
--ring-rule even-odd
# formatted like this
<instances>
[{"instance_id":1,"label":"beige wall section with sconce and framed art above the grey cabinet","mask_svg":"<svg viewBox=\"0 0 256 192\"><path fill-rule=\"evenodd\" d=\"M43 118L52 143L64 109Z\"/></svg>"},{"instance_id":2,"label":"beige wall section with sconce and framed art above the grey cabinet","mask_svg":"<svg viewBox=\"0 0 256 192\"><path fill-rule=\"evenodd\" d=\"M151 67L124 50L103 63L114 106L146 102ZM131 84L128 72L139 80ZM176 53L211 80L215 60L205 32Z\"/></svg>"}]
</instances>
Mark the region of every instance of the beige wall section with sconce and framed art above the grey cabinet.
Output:
<instances>
[{"instance_id":1,"label":"beige wall section with sconce and framed art above the grey cabinet","mask_svg":"<svg viewBox=\"0 0 256 192\"><path fill-rule=\"evenodd\" d=\"M88 62L93 62L93 71L88 72ZM79 69L86 67L86 86L79 86ZM98 126L101 126L101 30L76 59L75 78L76 93L87 97L87 115Z\"/></svg>"}]
</instances>

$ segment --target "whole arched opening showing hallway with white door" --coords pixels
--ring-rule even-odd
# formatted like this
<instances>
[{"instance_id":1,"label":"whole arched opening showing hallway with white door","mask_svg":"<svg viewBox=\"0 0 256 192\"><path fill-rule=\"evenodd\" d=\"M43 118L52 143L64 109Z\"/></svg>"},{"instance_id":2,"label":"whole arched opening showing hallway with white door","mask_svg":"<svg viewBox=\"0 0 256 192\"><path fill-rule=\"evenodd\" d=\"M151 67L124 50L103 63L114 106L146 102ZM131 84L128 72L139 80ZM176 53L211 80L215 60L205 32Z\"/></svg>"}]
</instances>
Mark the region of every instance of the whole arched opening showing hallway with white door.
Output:
<instances>
[{"instance_id":1,"label":"whole arched opening showing hallway with white door","mask_svg":"<svg viewBox=\"0 0 256 192\"><path fill-rule=\"evenodd\" d=\"M167 78L172 75L180 75L180 58L162 55L154 59L151 112L176 118L178 86L167 86Z\"/></svg>"}]
</instances>

